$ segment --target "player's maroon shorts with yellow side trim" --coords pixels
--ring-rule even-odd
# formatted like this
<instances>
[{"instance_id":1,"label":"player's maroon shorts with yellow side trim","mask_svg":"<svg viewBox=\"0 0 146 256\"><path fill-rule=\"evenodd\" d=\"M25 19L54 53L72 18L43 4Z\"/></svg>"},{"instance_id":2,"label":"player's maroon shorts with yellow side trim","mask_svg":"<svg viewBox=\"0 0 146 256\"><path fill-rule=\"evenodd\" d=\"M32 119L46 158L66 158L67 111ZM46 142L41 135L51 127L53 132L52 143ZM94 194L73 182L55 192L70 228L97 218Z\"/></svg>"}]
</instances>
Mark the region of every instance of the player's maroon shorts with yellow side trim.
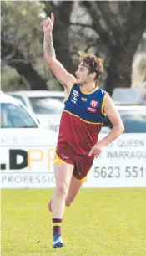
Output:
<instances>
[{"instance_id":1,"label":"player's maroon shorts with yellow side trim","mask_svg":"<svg viewBox=\"0 0 146 256\"><path fill-rule=\"evenodd\" d=\"M94 156L77 155L72 148L58 146L54 165L68 163L74 166L73 176L81 182L86 180L88 172L93 165Z\"/></svg>"}]
</instances>

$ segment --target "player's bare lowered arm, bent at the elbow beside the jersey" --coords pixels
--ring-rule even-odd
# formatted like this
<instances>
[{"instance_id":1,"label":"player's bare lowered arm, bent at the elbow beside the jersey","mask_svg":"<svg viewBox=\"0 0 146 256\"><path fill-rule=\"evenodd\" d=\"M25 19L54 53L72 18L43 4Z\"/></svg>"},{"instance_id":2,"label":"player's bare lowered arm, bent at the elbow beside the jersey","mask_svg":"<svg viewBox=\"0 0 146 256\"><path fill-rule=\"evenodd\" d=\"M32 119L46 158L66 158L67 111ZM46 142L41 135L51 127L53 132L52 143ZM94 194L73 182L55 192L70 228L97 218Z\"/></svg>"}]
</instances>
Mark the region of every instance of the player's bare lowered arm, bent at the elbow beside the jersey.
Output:
<instances>
[{"instance_id":1,"label":"player's bare lowered arm, bent at the elbow beside the jersey","mask_svg":"<svg viewBox=\"0 0 146 256\"><path fill-rule=\"evenodd\" d=\"M117 139L118 136L120 136L124 131L123 121L121 120L118 110L116 109L116 106L109 95L106 95L103 111L111 121L113 129L108 133L107 136L93 146L88 156L100 155L103 146L107 146L109 143Z\"/></svg>"}]
</instances>

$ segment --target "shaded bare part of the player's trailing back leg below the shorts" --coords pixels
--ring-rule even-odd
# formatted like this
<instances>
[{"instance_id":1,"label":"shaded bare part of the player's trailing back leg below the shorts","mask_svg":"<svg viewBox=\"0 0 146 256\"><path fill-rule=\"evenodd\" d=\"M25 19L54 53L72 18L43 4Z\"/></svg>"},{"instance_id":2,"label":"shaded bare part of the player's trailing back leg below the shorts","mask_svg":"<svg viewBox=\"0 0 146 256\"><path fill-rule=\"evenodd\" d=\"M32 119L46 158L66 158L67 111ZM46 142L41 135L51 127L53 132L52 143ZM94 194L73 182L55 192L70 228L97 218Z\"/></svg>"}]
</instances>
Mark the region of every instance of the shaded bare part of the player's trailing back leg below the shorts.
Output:
<instances>
[{"instance_id":1,"label":"shaded bare part of the player's trailing back leg below the shorts","mask_svg":"<svg viewBox=\"0 0 146 256\"><path fill-rule=\"evenodd\" d=\"M70 202L73 202L74 198L78 195L81 187L83 187L83 182L73 176L69 185L68 195L66 197L66 202L68 204Z\"/></svg>"}]
</instances>

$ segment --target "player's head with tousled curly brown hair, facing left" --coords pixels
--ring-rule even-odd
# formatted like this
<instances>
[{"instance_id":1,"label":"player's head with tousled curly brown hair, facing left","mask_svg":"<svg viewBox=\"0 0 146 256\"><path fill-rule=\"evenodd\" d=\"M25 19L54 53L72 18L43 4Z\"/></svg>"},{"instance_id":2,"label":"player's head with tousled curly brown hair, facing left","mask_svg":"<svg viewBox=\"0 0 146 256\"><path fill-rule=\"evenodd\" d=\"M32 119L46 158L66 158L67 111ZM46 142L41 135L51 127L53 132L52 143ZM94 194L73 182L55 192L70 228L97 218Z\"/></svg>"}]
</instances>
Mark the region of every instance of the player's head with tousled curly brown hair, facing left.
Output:
<instances>
[{"instance_id":1,"label":"player's head with tousled curly brown hair, facing left","mask_svg":"<svg viewBox=\"0 0 146 256\"><path fill-rule=\"evenodd\" d=\"M78 84L87 84L96 81L100 74L103 73L103 60L93 54L78 52L81 63L76 71Z\"/></svg>"}]
</instances>

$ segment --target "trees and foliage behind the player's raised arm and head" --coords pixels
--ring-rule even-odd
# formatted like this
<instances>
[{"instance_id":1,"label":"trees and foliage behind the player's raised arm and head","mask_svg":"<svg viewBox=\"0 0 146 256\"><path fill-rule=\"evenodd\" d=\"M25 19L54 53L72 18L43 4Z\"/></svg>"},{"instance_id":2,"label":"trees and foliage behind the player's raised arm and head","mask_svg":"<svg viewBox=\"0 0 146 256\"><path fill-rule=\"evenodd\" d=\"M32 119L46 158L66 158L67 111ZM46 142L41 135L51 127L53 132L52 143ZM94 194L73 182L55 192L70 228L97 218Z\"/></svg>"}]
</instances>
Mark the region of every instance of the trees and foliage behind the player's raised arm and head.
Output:
<instances>
[{"instance_id":1,"label":"trees and foliage behind the player's raised arm and head","mask_svg":"<svg viewBox=\"0 0 146 256\"><path fill-rule=\"evenodd\" d=\"M131 85L133 56L146 28L145 1L2 1L3 90L62 90L43 59L43 20L55 15L57 58L72 74L78 50L103 59L99 84Z\"/></svg>"}]
</instances>

